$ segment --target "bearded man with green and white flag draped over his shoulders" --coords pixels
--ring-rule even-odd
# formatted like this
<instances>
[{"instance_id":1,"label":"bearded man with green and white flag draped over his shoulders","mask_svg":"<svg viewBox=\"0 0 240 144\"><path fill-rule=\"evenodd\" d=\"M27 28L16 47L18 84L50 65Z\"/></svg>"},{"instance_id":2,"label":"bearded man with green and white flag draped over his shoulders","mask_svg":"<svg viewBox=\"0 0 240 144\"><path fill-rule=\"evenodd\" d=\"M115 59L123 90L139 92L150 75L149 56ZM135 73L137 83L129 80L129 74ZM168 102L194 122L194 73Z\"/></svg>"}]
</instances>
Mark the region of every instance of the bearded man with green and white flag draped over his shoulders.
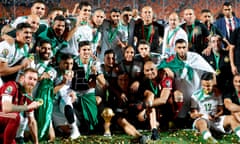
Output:
<instances>
[{"instance_id":1,"label":"bearded man with green and white flag draped over his shoulders","mask_svg":"<svg viewBox=\"0 0 240 144\"><path fill-rule=\"evenodd\" d=\"M215 73L213 68L199 54L188 51L188 43L184 39L178 39L175 43L176 55L161 61L158 68L170 68L174 72L175 88L183 93L183 107L178 118L184 119L190 110L191 95L200 88L200 77L204 72ZM179 122L179 121L177 121Z\"/></svg>"}]
</instances>

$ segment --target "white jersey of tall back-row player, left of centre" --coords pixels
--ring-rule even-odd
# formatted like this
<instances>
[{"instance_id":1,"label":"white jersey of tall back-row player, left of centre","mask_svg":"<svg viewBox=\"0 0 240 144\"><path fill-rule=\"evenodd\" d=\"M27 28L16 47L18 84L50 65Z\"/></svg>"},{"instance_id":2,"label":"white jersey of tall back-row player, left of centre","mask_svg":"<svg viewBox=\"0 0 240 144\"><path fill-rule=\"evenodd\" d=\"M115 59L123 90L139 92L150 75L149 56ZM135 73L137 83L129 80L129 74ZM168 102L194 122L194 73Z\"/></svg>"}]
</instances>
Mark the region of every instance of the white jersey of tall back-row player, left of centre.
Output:
<instances>
[{"instance_id":1,"label":"white jersey of tall back-row player, left of centre","mask_svg":"<svg viewBox=\"0 0 240 144\"><path fill-rule=\"evenodd\" d=\"M81 41L92 41L93 29L89 25L79 26L72 38L68 41L68 46L60 50L61 53L78 56L78 43Z\"/></svg>"}]
</instances>

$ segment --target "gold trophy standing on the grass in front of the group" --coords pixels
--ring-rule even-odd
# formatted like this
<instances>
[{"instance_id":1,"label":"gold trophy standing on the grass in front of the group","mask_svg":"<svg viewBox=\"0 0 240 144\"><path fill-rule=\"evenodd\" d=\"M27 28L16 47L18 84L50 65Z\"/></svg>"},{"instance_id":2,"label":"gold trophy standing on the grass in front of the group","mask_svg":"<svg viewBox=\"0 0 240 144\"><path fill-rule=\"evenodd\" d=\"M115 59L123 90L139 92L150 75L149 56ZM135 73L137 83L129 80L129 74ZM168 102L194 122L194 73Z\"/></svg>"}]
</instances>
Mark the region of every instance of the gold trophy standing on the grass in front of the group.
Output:
<instances>
[{"instance_id":1,"label":"gold trophy standing on the grass in front of the group","mask_svg":"<svg viewBox=\"0 0 240 144\"><path fill-rule=\"evenodd\" d=\"M104 108L101 116L104 119L104 136L111 137L111 131L110 131L110 125L111 125L111 119L114 116L114 112L111 108Z\"/></svg>"}]
</instances>

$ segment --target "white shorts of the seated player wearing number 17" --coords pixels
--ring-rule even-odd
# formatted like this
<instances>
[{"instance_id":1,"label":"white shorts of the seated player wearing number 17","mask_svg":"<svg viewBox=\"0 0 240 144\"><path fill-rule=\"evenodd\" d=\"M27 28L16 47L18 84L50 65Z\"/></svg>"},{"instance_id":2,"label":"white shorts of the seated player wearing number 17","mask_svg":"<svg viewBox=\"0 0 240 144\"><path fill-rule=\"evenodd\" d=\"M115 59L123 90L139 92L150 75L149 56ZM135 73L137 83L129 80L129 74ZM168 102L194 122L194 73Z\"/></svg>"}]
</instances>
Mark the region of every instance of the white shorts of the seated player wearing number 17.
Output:
<instances>
[{"instance_id":1,"label":"white shorts of the seated player wearing number 17","mask_svg":"<svg viewBox=\"0 0 240 144\"><path fill-rule=\"evenodd\" d=\"M231 133L231 129L225 129L223 127L223 122L225 119L225 115L220 116L216 121L210 121L208 119L208 115L203 115L200 118L197 118L194 122L193 122L193 129L196 129L196 122L200 119L204 119L207 122L208 128L209 129L213 129L215 131L219 131L222 132L224 134L229 134Z\"/></svg>"}]
</instances>

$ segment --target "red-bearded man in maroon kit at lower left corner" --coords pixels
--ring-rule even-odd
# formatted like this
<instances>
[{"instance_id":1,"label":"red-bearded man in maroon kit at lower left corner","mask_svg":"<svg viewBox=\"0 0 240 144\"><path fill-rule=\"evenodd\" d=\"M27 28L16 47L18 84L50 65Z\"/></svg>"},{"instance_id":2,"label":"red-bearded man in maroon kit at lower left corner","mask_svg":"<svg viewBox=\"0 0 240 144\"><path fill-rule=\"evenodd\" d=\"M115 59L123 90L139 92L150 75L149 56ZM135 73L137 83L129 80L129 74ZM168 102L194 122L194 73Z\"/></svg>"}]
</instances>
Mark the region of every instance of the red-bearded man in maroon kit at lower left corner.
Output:
<instances>
[{"instance_id":1,"label":"red-bearded man in maroon kit at lower left corner","mask_svg":"<svg viewBox=\"0 0 240 144\"><path fill-rule=\"evenodd\" d=\"M20 112L26 111L28 125L34 139L38 144L37 123L34 118L34 109L40 102L33 101L32 90L37 83L38 75L34 69L26 69L21 84L8 81L0 90L0 133L3 134L4 144L15 143L14 138L20 125Z\"/></svg>"}]
</instances>

